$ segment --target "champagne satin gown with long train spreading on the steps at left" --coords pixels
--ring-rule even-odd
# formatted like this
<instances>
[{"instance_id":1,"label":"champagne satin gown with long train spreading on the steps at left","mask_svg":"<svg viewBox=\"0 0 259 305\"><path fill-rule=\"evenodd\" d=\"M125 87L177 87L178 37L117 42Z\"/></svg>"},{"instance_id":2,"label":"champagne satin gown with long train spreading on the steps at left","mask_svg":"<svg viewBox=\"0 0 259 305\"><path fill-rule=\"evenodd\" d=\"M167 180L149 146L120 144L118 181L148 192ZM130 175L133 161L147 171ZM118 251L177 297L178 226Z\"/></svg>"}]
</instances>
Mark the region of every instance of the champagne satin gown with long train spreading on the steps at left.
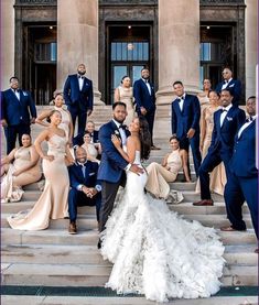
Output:
<instances>
[{"instance_id":1,"label":"champagne satin gown with long train spreading on the steps at left","mask_svg":"<svg viewBox=\"0 0 259 305\"><path fill-rule=\"evenodd\" d=\"M44 190L32 210L8 217L13 229L44 230L48 227L50 219L67 217L69 177L65 165L66 137L54 134L47 145L47 154L54 155L54 161L43 160L46 179Z\"/></svg>"}]
</instances>

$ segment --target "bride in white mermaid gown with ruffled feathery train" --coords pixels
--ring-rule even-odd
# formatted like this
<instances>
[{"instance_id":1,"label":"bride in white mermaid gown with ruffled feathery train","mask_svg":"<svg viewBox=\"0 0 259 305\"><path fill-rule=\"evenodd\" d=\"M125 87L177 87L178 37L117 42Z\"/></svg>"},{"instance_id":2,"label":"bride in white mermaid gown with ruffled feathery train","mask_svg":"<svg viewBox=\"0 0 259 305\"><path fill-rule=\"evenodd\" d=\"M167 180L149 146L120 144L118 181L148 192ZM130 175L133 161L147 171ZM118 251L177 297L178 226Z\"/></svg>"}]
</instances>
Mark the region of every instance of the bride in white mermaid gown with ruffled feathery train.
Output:
<instances>
[{"instance_id":1,"label":"bride in white mermaid gown with ruffled feathery train","mask_svg":"<svg viewBox=\"0 0 259 305\"><path fill-rule=\"evenodd\" d=\"M129 130L127 153L116 135L112 142L128 162L141 164L150 152L147 121L136 118ZM213 228L182 219L164 200L145 194L145 173L127 172L127 185L101 233L101 254L114 263L106 286L157 302L215 294L225 262L219 237Z\"/></svg>"}]
</instances>

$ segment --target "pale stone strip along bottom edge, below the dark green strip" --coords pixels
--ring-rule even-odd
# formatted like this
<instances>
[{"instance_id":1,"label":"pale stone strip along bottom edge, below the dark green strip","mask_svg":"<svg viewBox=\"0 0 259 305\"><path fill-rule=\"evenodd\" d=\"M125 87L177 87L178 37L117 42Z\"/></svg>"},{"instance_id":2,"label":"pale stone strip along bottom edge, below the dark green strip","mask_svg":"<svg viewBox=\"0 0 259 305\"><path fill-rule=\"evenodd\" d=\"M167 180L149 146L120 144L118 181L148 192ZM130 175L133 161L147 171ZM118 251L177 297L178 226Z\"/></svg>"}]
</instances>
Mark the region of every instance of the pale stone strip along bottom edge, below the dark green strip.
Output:
<instances>
[{"instance_id":1,"label":"pale stone strip along bottom edge, below the dark green strip","mask_svg":"<svg viewBox=\"0 0 259 305\"><path fill-rule=\"evenodd\" d=\"M2 304L17 305L17 295L2 295ZM98 296L52 296L52 295L19 295L19 303L26 305L155 305L144 297L98 297ZM197 299L173 299L166 303L168 305L257 305L257 296L212 296L209 298Z\"/></svg>"}]
</instances>

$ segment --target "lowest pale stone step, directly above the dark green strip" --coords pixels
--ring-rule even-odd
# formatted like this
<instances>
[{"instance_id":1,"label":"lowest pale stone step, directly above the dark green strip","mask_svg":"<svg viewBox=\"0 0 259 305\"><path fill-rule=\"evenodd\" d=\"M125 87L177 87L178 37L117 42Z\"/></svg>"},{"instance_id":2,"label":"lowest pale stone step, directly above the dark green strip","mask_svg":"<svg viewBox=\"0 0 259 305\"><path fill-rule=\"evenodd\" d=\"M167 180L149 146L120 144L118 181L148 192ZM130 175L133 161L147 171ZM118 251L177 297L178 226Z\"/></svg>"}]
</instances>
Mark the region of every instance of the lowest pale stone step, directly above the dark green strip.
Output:
<instances>
[{"instance_id":1,"label":"lowest pale stone step, directly above the dark green strip","mask_svg":"<svg viewBox=\"0 0 259 305\"><path fill-rule=\"evenodd\" d=\"M2 285L104 286L110 265L93 264L2 264ZM257 266L227 265L220 279L225 286L257 286Z\"/></svg>"}]
</instances>

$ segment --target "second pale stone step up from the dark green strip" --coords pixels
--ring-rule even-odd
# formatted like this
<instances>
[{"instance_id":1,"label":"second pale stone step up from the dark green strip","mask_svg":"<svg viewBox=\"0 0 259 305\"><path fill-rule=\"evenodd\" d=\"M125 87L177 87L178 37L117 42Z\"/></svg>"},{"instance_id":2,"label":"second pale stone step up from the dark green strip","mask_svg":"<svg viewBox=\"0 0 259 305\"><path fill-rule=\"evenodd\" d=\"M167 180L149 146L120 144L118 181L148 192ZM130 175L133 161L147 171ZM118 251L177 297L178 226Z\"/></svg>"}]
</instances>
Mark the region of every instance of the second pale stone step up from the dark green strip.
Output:
<instances>
[{"instance_id":1,"label":"second pale stone step up from the dark green strip","mask_svg":"<svg viewBox=\"0 0 259 305\"><path fill-rule=\"evenodd\" d=\"M224 258L227 265L257 265L256 244L226 246ZM55 244L4 244L1 247L1 263L82 263L110 265L102 260L96 246Z\"/></svg>"}]
</instances>

